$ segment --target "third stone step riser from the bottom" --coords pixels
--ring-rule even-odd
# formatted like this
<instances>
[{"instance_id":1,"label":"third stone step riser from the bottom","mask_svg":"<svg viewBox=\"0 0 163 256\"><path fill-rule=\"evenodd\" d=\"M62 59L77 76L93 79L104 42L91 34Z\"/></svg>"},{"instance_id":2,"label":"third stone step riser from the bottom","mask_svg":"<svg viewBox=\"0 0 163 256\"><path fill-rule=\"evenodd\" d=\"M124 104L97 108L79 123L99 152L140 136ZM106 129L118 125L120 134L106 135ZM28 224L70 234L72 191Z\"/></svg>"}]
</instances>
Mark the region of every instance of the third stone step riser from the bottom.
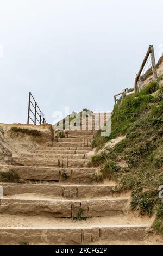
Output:
<instances>
[{"instance_id":1,"label":"third stone step riser from the bottom","mask_svg":"<svg viewBox=\"0 0 163 256\"><path fill-rule=\"evenodd\" d=\"M27 194L29 197L93 198L110 196L114 186L110 185L66 185L66 184L17 184L0 183L4 196ZM34 195L33 195L34 194ZM22 195L23 196L23 195Z\"/></svg>"}]
</instances>

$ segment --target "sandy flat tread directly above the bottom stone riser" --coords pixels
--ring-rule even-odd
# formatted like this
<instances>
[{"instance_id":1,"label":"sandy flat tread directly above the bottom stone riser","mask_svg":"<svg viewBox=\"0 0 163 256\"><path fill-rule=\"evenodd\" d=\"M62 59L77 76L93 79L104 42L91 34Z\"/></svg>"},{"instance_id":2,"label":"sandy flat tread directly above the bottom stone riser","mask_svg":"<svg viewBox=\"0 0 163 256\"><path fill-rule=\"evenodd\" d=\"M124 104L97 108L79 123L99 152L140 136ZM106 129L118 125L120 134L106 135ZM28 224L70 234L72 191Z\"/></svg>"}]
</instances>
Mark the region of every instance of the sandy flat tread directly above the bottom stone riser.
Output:
<instances>
[{"instance_id":1,"label":"sandy flat tread directly above the bottom stone riser","mask_svg":"<svg viewBox=\"0 0 163 256\"><path fill-rule=\"evenodd\" d=\"M73 220L71 218L53 218L53 216L24 216L0 215L0 227L111 227L120 225L150 226L153 218L148 216L135 216L133 213L119 213L115 216L93 217L86 220Z\"/></svg>"}]
</instances>

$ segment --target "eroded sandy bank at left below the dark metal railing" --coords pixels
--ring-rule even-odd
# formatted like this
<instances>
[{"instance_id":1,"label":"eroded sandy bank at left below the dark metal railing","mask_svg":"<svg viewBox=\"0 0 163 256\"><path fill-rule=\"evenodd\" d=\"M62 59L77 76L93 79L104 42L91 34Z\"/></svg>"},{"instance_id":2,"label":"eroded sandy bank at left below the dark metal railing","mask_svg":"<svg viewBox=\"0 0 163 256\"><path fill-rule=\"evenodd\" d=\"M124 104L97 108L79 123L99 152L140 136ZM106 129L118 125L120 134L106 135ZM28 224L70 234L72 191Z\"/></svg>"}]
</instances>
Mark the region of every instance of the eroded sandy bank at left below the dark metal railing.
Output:
<instances>
[{"instance_id":1,"label":"eroded sandy bank at left below the dark metal railing","mask_svg":"<svg viewBox=\"0 0 163 256\"><path fill-rule=\"evenodd\" d=\"M13 127L17 129L13 130ZM54 130L49 124L0 124L0 164L7 164L9 157L26 154L53 139Z\"/></svg>"}]
</instances>

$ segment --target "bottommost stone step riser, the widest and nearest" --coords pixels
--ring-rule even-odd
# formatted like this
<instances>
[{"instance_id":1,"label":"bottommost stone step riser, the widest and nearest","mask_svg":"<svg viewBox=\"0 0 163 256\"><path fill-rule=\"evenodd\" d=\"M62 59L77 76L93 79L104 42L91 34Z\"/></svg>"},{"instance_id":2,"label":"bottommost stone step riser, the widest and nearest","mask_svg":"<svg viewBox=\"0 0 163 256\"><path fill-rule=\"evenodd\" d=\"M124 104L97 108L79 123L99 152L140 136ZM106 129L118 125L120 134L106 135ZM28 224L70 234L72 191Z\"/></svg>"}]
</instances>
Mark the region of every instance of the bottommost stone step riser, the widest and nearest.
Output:
<instances>
[{"instance_id":1,"label":"bottommost stone step riser, the widest and nearest","mask_svg":"<svg viewBox=\"0 0 163 256\"><path fill-rule=\"evenodd\" d=\"M107 241L143 241L148 225L110 225L97 227L0 227L1 245L108 245ZM121 242L119 244L121 244Z\"/></svg>"}]
</instances>

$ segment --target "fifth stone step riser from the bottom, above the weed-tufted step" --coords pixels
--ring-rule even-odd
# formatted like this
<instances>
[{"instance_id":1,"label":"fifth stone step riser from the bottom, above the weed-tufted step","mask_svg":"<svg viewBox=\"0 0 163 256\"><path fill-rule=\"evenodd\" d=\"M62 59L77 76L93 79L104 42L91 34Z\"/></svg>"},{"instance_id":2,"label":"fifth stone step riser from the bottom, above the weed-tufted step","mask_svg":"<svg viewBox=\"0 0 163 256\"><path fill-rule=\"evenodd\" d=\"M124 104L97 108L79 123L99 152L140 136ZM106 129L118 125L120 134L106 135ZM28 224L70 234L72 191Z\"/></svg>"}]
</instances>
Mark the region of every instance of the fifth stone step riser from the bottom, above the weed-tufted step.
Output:
<instances>
[{"instance_id":1,"label":"fifth stone step riser from the bottom, above the weed-tufted step","mask_svg":"<svg viewBox=\"0 0 163 256\"><path fill-rule=\"evenodd\" d=\"M12 157L13 166L44 166L44 167L86 167L86 159L63 159L62 157Z\"/></svg>"}]
</instances>

